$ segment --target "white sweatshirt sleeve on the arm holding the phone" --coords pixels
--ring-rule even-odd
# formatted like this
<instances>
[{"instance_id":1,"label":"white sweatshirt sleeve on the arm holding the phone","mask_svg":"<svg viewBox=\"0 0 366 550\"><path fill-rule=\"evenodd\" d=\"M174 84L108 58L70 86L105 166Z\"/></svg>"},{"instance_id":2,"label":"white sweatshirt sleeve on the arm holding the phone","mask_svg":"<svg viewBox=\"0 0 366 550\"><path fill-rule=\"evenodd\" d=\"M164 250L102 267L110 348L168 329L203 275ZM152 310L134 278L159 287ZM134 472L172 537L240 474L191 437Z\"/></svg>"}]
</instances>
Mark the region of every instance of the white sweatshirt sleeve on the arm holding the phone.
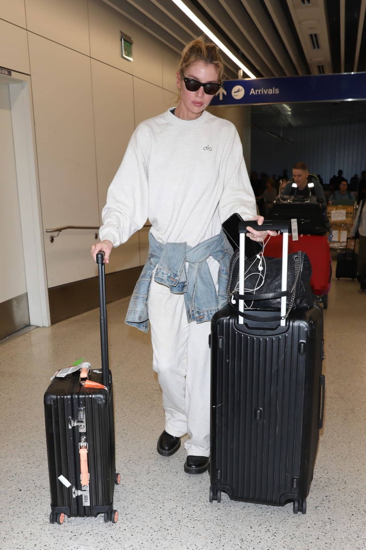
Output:
<instances>
[{"instance_id":1,"label":"white sweatshirt sleeve on the arm holding the phone","mask_svg":"<svg viewBox=\"0 0 366 550\"><path fill-rule=\"evenodd\" d=\"M221 223L235 212L244 220L252 218L257 213L254 192L243 158L243 147L236 130L226 164L224 190L218 205Z\"/></svg>"}]
</instances>

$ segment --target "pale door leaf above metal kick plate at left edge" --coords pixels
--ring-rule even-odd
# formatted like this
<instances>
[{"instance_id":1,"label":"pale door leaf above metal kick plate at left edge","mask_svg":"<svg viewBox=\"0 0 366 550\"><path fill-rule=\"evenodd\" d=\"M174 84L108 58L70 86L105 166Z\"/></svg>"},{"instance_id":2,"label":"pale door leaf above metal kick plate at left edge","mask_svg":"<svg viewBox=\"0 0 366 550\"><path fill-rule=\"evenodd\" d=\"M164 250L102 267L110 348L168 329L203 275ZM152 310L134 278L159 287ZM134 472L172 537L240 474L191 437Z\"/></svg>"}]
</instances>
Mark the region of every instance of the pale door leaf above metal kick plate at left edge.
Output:
<instances>
[{"instance_id":1,"label":"pale door leaf above metal kick plate at left edge","mask_svg":"<svg viewBox=\"0 0 366 550\"><path fill-rule=\"evenodd\" d=\"M6 261L0 270L0 303L27 292L21 237L9 86L0 84L0 234ZM6 243L6 244L5 244Z\"/></svg>"}]
</instances>

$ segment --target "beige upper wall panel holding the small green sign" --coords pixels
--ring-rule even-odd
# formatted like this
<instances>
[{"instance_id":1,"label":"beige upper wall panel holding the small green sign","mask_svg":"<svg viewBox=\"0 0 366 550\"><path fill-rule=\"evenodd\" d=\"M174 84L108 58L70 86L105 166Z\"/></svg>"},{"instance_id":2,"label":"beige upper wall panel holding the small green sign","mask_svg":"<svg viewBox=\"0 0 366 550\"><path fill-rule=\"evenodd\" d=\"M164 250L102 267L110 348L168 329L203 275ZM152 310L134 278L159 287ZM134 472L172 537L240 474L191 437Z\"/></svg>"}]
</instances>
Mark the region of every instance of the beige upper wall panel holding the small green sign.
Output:
<instances>
[{"instance_id":1,"label":"beige upper wall panel holding the small green sign","mask_svg":"<svg viewBox=\"0 0 366 550\"><path fill-rule=\"evenodd\" d=\"M89 0L91 57L133 74L134 62L122 58L120 31L132 35L131 20L102 0Z\"/></svg>"}]
</instances>

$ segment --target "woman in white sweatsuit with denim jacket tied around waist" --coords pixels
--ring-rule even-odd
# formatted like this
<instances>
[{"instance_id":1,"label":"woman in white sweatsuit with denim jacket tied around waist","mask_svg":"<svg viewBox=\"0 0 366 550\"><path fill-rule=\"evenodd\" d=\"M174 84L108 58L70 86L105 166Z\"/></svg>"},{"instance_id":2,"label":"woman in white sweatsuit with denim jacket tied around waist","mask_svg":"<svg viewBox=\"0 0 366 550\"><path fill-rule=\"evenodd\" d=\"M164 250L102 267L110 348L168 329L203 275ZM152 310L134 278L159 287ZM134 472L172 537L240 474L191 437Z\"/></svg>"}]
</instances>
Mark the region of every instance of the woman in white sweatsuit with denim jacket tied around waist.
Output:
<instances>
[{"instance_id":1,"label":"woman in white sweatsuit with denim jacket tied around waist","mask_svg":"<svg viewBox=\"0 0 366 550\"><path fill-rule=\"evenodd\" d=\"M125 243L149 218L149 258L126 323L148 331L165 410L157 452L185 442L184 470L207 470L210 455L210 320L226 303L232 249L221 224L234 212L256 216L243 149L232 123L205 111L223 80L218 48L202 38L185 47L178 106L139 124L103 208L95 256ZM266 232L250 229L253 240ZM271 234L274 234L271 232ZM188 273L187 273L188 268Z\"/></svg>"}]
</instances>

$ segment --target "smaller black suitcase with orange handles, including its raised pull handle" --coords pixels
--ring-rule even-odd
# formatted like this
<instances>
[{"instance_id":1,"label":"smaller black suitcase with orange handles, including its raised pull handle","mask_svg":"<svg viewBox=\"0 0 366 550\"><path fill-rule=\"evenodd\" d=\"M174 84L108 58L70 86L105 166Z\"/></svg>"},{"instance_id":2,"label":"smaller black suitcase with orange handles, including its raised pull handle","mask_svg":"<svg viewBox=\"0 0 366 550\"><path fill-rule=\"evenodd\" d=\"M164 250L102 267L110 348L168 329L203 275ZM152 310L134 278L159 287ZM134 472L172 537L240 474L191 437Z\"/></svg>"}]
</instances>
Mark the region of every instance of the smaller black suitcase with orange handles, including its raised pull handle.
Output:
<instances>
[{"instance_id":1,"label":"smaller black suitcase with orange handles, including its raised pull handle","mask_svg":"<svg viewBox=\"0 0 366 550\"><path fill-rule=\"evenodd\" d=\"M50 522L65 515L97 516L115 523L115 468L112 377L108 367L108 330L104 256L97 254L99 273L102 373L91 372L85 386L80 372L55 377L44 394L44 416L51 494ZM86 387L97 386L97 387Z\"/></svg>"}]
</instances>

